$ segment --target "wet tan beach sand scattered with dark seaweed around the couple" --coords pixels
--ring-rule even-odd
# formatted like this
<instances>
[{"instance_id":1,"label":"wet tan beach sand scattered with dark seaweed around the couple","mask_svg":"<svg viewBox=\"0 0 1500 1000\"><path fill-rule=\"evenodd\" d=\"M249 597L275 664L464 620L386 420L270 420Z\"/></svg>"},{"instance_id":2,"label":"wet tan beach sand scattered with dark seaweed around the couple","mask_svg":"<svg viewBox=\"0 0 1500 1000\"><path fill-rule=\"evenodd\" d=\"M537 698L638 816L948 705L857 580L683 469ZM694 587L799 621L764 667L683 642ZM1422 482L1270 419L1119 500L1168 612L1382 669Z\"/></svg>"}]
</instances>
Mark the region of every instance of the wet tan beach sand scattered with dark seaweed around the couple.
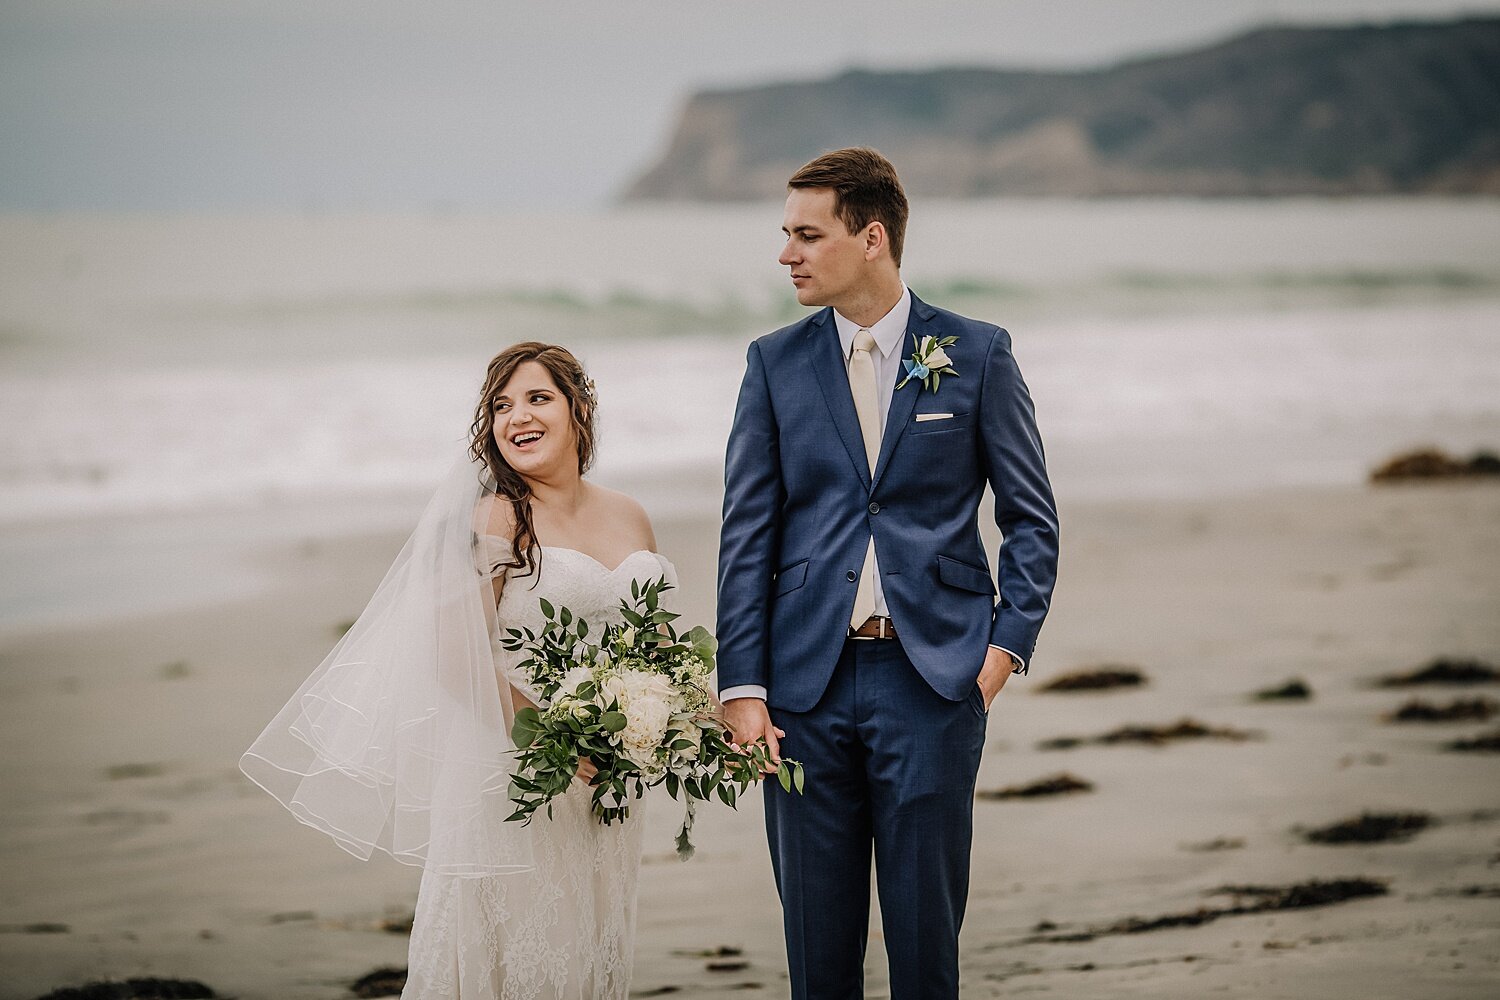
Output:
<instances>
[{"instance_id":1,"label":"wet tan beach sand scattered with dark seaweed around the couple","mask_svg":"<svg viewBox=\"0 0 1500 1000\"><path fill-rule=\"evenodd\" d=\"M980 786L1068 772L1094 789L975 804L963 996L1500 994L1500 759L1443 750L1496 723L1383 720L1413 694L1500 688L1370 685L1438 655L1500 663L1500 489L1122 501L1062 516L1054 610L1030 676L992 712ZM657 534L687 618L711 622L716 525L663 520ZM242 1000L333 999L405 964L406 939L381 922L411 913L420 873L351 858L236 768L399 544L267 544L254 565L224 565L264 580L254 595L0 639L0 1000L132 975ZM213 565L210 541L198 558ZM1102 664L1138 667L1146 684L1038 690ZM1290 678L1312 699L1250 697ZM1036 747L1185 717L1254 738ZM1299 832L1362 811L1434 823L1402 843L1340 847ZM645 817L636 996L784 996L758 801L705 810L686 865L670 855L676 820L664 798ZM1224 885L1335 877L1389 892L1038 940L1224 907L1204 895ZM710 970L702 952L720 948L741 954ZM867 996L885 996L878 924L867 967Z\"/></svg>"}]
</instances>

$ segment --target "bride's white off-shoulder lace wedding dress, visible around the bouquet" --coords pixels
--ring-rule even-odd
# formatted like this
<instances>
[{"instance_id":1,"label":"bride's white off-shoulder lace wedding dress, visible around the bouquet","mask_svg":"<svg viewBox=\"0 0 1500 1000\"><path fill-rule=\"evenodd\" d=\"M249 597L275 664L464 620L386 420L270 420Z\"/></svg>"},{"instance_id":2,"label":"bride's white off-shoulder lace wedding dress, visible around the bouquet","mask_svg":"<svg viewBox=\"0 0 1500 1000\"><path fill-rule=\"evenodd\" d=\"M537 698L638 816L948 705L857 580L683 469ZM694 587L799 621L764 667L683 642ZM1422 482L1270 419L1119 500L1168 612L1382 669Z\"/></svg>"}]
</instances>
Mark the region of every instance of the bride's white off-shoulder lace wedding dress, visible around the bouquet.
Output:
<instances>
[{"instance_id":1,"label":"bride's white off-shoulder lace wedding dress, visible around the bouquet","mask_svg":"<svg viewBox=\"0 0 1500 1000\"><path fill-rule=\"evenodd\" d=\"M495 553L490 564L508 558L508 541L486 537L486 543ZM676 570L654 552L633 552L610 570L574 549L543 546L537 576L506 580L498 630L540 631L543 597L596 628L615 624L630 582L662 576L676 585ZM495 661L510 684L538 700L516 670L518 654L495 639ZM588 786L574 781L554 799L550 819L537 811L525 828L532 838L531 871L478 879L423 873L404 1000L626 999L644 799L632 805L627 822L604 826L590 811L590 796ZM496 811L492 822L508 814Z\"/></svg>"}]
</instances>

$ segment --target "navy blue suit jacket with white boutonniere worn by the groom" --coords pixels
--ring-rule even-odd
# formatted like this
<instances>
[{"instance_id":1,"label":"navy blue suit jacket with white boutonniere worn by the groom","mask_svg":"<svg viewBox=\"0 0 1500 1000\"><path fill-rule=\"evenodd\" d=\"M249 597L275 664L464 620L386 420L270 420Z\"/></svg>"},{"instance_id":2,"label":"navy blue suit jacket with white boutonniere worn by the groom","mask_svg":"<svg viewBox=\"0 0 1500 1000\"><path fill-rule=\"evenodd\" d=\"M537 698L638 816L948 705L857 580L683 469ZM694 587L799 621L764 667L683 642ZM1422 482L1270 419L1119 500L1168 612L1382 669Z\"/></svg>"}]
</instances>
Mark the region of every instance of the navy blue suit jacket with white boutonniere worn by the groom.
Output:
<instances>
[{"instance_id":1,"label":"navy blue suit jacket with white boutonniere worn by the groom","mask_svg":"<svg viewBox=\"0 0 1500 1000\"><path fill-rule=\"evenodd\" d=\"M1058 513L1010 334L912 295L902 357L924 336L957 378L891 397L872 480L832 309L750 345L724 460L718 682L813 708L849 628L874 537L885 603L916 670L964 697L990 645L1030 661L1058 568ZM918 420L921 414L952 414ZM999 591L980 540L994 490Z\"/></svg>"}]
</instances>

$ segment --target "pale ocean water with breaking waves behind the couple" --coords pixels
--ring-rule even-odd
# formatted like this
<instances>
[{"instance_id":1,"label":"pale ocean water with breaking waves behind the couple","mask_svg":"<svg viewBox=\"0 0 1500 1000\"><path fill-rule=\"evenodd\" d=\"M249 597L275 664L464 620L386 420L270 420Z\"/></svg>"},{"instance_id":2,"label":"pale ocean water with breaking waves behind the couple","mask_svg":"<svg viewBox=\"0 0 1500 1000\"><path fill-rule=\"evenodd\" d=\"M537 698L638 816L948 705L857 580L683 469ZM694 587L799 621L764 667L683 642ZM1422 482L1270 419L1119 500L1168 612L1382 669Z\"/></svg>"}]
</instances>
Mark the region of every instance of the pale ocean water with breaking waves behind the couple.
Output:
<instances>
[{"instance_id":1,"label":"pale ocean water with breaking waves behind the couple","mask_svg":"<svg viewBox=\"0 0 1500 1000\"><path fill-rule=\"evenodd\" d=\"M746 346L807 312L778 226L776 204L0 217L0 628L244 586L189 546L148 597L106 594L100 547L399 529L518 340L594 375L602 481L711 514ZM918 202L903 273L1010 328L1064 502L1500 447L1496 199Z\"/></svg>"}]
</instances>

